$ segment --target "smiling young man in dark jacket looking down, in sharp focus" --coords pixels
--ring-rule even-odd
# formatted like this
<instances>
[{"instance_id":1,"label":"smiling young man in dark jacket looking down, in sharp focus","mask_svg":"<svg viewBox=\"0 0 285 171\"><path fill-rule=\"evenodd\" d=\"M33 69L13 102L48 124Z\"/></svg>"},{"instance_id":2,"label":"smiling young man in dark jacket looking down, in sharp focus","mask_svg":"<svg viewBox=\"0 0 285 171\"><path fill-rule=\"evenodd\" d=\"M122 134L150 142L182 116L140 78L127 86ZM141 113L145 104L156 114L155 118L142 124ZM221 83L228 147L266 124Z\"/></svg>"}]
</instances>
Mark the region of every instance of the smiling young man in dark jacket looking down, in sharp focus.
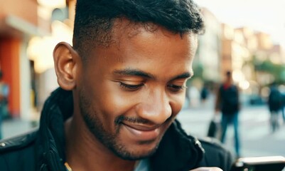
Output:
<instances>
[{"instance_id":1,"label":"smiling young man in dark jacket looking down, in sharp focus","mask_svg":"<svg viewBox=\"0 0 285 171\"><path fill-rule=\"evenodd\" d=\"M77 0L75 12L73 46L53 53L60 88L38 131L2 142L1 170L229 170L227 150L175 120L203 31L197 6Z\"/></svg>"}]
</instances>

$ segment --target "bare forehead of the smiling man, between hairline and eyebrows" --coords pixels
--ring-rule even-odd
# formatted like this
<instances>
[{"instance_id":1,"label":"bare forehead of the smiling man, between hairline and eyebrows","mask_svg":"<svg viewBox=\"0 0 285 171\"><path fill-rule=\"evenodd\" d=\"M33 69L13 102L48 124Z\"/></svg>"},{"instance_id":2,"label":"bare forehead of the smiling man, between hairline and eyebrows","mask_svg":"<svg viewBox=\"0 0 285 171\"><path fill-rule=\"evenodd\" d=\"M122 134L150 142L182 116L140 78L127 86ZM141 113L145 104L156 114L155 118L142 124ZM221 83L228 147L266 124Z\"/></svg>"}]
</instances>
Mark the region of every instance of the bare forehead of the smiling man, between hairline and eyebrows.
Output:
<instances>
[{"instance_id":1,"label":"bare forehead of the smiling man, between hairline and eyebrows","mask_svg":"<svg viewBox=\"0 0 285 171\"><path fill-rule=\"evenodd\" d=\"M92 49L91 60L95 62L87 65L91 65L90 68L104 66L101 73L137 68L154 74L159 74L156 71L180 74L191 70L196 46L194 33L181 35L155 24L134 24L119 19L112 29L112 43Z\"/></svg>"}]
</instances>

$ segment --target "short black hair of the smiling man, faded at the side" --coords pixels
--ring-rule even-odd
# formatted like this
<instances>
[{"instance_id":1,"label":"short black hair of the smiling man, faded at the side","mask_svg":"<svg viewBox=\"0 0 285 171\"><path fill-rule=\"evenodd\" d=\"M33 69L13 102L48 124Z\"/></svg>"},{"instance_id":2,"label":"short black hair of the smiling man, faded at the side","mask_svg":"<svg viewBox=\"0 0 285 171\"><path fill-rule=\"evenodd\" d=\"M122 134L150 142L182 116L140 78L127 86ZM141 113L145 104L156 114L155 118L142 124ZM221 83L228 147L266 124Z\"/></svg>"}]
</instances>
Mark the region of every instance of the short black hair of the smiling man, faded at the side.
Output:
<instances>
[{"instance_id":1,"label":"short black hair of the smiling man, faded at the side","mask_svg":"<svg viewBox=\"0 0 285 171\"><path fill-rule=\"evenodd\" d=\"M120 18L157 24L174 33L204 31L203 16L192 0L77 0L74 48L85 56L88 42L108 46L114 20Z\"/></svg>"}]
</instances>

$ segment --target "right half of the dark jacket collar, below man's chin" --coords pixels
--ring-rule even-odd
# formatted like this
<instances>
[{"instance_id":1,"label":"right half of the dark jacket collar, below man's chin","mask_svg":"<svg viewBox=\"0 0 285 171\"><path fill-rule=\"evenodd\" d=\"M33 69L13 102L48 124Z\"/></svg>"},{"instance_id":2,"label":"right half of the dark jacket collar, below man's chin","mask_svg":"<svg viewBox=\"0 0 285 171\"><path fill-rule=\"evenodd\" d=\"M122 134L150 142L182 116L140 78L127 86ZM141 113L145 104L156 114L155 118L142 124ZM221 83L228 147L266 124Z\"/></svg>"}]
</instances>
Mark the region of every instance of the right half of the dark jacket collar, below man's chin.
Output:
<instances>
[{"instance_id":1,"label":"right half of the dark jacket collar, below man's chin","mask_svg":"<svg viewBox=\"0 0 285 171\"><path fill-rule=\"evenodd\" d=\"M151 157L152 170L190 170L197 167L204 155L198 139L185 133L175 120L163 136L158 150Z\"/></svg>"}]
</instances>

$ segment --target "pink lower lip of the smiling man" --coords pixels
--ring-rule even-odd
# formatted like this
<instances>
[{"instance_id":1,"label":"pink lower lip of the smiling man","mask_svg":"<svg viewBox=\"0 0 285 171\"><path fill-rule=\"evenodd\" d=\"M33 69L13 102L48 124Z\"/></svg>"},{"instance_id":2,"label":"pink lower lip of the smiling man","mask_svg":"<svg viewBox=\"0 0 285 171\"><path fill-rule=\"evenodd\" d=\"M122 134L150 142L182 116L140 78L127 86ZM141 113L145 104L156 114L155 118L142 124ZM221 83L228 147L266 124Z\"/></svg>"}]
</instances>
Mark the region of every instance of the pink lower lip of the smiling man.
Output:
<instances>
[{"instance_id":1,"label":"pink lower lip of the smiling man","mask_svg":"<svg viewBox=\"0 0 285 171\"><path fill-rule=\"evenodd\" d=\"M124 128L137 140L154 140L159 135L158 128L154 130L136 130L128 125L124 125Z\"/></svg>"}]
</instances>

